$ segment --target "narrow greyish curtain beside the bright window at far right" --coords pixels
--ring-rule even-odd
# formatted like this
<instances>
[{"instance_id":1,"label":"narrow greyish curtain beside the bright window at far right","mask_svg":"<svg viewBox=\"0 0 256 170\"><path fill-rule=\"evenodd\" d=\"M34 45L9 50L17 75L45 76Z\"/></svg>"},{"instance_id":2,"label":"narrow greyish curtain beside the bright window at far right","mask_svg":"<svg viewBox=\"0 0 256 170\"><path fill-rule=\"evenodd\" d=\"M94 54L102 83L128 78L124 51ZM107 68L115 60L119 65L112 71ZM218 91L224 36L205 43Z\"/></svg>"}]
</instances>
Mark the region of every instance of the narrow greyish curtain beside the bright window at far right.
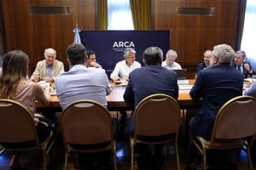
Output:
<instances>
[{"instance_id":1,"label":"narrow greyish curtain beside the bright window at far right","mask_svg":"<svg viewBox=\"0 0 256 170\"><path fill-rule=\"evenodd\" d=\"M237 20L237 32L236 32L236 50L241 49L241 37L243 32L244 19L247 8L247 0L239 0L238 3L238 20Z\"/></svg>"}]
</instances>

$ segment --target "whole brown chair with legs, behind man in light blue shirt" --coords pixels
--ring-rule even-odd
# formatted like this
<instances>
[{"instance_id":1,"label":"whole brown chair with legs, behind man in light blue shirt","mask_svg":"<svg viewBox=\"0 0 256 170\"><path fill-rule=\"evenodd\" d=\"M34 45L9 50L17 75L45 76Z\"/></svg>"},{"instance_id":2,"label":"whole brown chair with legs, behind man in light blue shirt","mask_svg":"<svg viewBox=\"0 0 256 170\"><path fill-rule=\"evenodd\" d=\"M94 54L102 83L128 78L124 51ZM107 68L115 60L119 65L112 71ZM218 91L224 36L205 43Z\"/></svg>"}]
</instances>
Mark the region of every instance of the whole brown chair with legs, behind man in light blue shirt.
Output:
<instances>
[{"instance_id":1,"label":"whole brown chair with legs, behind man in light blue shirt","mask_svg":"<svg viewBox=\"0 0 256 170\"><path fill-rule=\"evenodd\" d=\"M74 152L97 153L113 151L113 167L117 169L116 146L113 139L112 120L106 107L93 100L78 100L68 105L61 118L67 158Z\"/></svg>"}]
</instances>

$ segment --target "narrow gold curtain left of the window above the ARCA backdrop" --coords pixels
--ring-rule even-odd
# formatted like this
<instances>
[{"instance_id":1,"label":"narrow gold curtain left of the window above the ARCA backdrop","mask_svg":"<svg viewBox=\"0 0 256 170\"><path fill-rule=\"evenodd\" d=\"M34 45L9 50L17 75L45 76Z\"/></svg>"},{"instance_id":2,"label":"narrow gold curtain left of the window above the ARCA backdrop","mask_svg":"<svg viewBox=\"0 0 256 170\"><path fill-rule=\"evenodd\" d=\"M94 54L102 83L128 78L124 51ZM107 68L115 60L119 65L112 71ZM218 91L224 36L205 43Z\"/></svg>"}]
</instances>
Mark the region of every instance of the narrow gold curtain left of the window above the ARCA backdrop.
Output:
<instances>
[{"instance_id":1,"label":"narrow gold curtain left of the window above the ARCA backdrop","mask_svg":"<svg viewBox=\"0 0 256 170\"><path fill-rule=\"evenodd\" d=\"M99 30L108 29L108 0L98 0Z\"/></svg>"}]
</instances>

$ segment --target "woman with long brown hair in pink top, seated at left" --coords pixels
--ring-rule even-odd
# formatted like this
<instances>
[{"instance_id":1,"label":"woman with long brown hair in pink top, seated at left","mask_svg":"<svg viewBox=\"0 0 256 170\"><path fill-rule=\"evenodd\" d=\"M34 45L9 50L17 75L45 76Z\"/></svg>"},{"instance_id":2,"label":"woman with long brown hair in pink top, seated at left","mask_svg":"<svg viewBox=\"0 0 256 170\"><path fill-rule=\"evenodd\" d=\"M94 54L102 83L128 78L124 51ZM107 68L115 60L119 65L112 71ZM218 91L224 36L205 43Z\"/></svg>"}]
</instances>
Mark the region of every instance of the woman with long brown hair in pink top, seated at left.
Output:
<instances>
[{"instance_id":1,"label":"woman with long brown hair in pink top, seated at left","mask_svg":"<svg viewBox=\"0 0 256 170\"><path fill-rule=\"evenodd\" d=\"M0 77L0 99L13 99L25 105L32 116L36 111L33 99L36 98L44 105L49 105L50 89L41 88L38 83L27 79L28 56L20 51L10 51L3 56L2 76ZM50 133L49 124L41 122L34 116L35 126L40 141L47 139ZM15 151L9 168L20 167L20 151Z\"/></svg>"}]
</instances>

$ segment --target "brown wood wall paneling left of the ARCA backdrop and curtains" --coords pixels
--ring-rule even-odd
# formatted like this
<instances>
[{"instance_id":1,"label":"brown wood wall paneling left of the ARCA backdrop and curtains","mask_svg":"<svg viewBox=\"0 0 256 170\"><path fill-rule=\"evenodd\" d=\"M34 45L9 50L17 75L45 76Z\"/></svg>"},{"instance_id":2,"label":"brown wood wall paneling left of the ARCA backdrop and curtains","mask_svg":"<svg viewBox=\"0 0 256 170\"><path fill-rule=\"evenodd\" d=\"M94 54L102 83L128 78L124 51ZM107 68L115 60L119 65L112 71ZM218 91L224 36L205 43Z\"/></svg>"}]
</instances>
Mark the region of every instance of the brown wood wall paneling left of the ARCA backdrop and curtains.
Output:
<instances>
[{"instance_id":1,"label":"brown wood wall paneling left of the ARCA backdrop and curtains","mask_svg":"<svg viewBox=\"0 0 256 170\"><path fill-rule=\"evenodd\" d=\"M29 14L30 7L69 7L70 14ZM7 51L21 49L30 57L29 72L44 59L44 48L55 48L67 68L67 46L73 42L76 24L95 30L94 0L9 0L3 3Z\"/></svg>"}]
</instances>

